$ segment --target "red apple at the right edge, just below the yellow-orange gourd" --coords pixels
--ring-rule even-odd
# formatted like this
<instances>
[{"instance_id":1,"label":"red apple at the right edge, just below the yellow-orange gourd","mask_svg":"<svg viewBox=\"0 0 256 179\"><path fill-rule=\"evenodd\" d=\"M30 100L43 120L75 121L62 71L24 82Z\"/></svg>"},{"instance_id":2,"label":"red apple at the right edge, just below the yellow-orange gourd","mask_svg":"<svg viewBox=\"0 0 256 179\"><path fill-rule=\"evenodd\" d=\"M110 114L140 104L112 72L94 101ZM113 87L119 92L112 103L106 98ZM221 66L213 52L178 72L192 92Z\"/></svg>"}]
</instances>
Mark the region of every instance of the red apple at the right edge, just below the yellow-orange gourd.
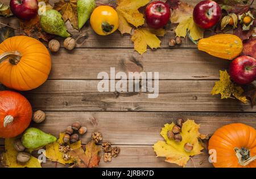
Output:
<instances>
[{"instance_id":1,"label":"red apple at the right edge, just below the yellow-orange gourd","mask_svg":"<svg viewBox=\"0 0 256 179\"><path fill-rule=\"evenodd\" d=\"M256 79L256 59L250 56L237 57L230 63L229 75L238 84L249 84Z\"/></svg>"}]
</instances>

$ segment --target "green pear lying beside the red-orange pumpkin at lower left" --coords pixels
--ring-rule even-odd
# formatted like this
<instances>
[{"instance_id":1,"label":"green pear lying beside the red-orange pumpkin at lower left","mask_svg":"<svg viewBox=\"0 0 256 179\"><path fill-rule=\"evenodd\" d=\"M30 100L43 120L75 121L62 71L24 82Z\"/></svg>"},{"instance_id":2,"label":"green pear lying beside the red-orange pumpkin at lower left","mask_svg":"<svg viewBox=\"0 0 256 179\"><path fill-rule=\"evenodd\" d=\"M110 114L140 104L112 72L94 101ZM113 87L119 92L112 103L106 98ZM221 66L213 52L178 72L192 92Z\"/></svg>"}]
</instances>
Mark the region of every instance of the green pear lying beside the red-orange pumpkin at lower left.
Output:
<instances>
[{"instance_id":1,"label":"green pear lying beside the red-orange pumpkin at lower left","mask_svg":"<svg viewBox=\"0 0 256 179\"><path fill-rule=\"evenodd\" d=\"M51 134L46 134L40 129L34 127L28 128L22 136L22 144L28 149L43 147L48 143L56 141L57 138Z\"/></svg>"}]
</instances>

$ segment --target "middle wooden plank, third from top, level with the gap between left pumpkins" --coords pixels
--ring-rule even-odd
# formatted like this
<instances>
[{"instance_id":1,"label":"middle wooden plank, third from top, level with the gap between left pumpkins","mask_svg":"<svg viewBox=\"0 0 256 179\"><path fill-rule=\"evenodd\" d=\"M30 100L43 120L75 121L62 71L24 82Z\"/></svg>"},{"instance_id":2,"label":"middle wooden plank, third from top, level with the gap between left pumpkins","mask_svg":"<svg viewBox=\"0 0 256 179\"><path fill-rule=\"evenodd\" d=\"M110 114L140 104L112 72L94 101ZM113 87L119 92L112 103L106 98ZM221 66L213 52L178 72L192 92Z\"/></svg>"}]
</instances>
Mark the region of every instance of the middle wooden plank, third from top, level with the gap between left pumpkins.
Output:
<instances>
[{"instance_id":1,"label":"middle wooden plank, third from top, level with the gap between left pumpkins","mask_svg":"<svg viewBox=\"0 0 256 179\"><path fill-rule=\"evenodd\" d=\"M249 103L210 95L212 80L160 80L159 96L146 92L98 92L100 80L48 80L36 90L22 92L34 110L50 111L170 111L256 112Z\"/></svg>"}]
</instances>

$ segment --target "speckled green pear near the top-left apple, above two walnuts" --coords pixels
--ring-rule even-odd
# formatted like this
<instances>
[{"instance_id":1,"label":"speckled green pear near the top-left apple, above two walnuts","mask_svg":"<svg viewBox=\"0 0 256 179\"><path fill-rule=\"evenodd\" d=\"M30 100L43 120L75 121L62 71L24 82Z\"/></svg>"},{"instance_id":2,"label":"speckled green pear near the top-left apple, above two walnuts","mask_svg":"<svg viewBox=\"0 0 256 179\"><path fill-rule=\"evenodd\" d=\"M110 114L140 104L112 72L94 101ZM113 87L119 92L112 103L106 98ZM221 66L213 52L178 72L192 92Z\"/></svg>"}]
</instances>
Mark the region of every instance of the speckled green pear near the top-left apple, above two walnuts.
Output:
<instances>
[{"instance_id":1,"label":"speckled green pear near the top-left apple, above two walnuts","mask_svg":"<svg viewBox=\"0 0 256 179\"><path fill-rule=\"evenodd\" d=\"M62 19L60 12L56 10L47 10L45 15L40 17L40 25L44 31L61 37L70 37L67 27Z\"/></svg>"}]
</instances>

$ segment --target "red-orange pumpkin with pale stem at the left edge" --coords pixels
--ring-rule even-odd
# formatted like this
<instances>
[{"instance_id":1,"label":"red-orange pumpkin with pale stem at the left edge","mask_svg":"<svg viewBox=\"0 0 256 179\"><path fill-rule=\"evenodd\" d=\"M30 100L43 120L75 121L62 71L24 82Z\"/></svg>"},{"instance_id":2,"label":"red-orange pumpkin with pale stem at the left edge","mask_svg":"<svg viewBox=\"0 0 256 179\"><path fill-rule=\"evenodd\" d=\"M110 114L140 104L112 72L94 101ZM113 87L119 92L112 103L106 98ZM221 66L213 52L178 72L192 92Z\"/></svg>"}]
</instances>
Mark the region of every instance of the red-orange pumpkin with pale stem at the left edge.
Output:
<instances>
[{"instance_id":1,"label":"red-orange pumpkin with pale stem at the left edge","mask_svg":"<svg viewBox=\"0 0 256 179\"><path fill-rule=\"evenodd\" d=\"M13 91L0 91L0 138L23 133L31 119L32 107L26 97Z\"/></svg>"}]
</instances>

